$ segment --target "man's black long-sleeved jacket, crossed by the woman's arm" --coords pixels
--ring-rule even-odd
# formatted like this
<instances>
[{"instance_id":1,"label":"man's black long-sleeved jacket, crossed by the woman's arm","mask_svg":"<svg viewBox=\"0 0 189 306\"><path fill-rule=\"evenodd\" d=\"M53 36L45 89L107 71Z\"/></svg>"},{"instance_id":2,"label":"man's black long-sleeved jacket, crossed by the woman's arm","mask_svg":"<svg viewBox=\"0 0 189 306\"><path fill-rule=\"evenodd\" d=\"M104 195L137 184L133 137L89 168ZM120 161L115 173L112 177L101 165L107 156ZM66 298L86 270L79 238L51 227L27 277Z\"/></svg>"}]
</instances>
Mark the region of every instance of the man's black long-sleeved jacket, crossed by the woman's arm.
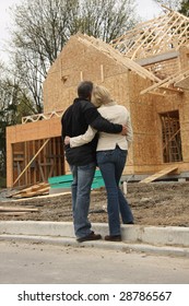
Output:
<instances>
[{"instance_id":1,"label":"man's black long-sleeved jacket, crossed by the woman's arm","mask_svg":"<svg viewBox=\"0 0 189 306\"><path fill-rule=\"evenodd\" d=\"M122 126L110 123L103 118L97 108L87 99L75 98L73 104L64 111L61 118L62 139L66 136L76 137L85 133L87 127L92 126L98 131L108 133L120 133ZM96 161L97 134L88 143L70 148L66 145L66 158L70 165L87 165Z\"/></svg>"}]
</instances>

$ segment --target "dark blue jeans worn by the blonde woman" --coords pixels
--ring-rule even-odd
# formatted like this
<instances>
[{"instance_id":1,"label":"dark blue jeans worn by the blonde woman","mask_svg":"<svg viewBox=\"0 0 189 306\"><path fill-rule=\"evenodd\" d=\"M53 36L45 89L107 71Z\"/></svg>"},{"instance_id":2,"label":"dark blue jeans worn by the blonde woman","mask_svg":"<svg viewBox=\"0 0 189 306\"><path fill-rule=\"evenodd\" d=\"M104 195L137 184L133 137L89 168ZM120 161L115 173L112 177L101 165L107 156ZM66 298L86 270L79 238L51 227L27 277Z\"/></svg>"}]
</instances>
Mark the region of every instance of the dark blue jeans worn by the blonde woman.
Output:
<instances>
[{"instance_id":1,"label":"dark blue jeans worn by the blonde woman","mask_svg":"<svg viewBox=\"0 0 189 306\"><path fill-rule=\"evenodd\" d=\"M126 164L128 151L121 150L118 145L115 150L98 151L97 164L102 172L107 190L107 212L109 235L120 235L120 217L122 223L133 222L131 209L119 188L119 181Z\"/></svg>"}]
</instances>

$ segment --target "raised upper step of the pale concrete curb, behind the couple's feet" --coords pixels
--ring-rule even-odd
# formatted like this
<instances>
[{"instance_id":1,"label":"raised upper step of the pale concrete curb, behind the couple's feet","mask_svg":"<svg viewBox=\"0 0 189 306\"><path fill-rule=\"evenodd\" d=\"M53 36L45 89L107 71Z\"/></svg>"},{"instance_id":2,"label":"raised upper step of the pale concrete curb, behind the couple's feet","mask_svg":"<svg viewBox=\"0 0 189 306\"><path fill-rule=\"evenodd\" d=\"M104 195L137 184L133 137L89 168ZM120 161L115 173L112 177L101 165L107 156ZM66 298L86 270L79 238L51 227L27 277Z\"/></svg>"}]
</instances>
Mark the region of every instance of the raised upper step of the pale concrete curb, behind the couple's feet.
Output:
<instances>
[{"instance_id":1,"label":"raised upper step of the pale concrete curb, behind the couple's feet","mask_svg":"<svg viewBox=\"0 0 189 306\"><path fill-rule=\"evenodd\" d=\"M105 223L94 223L93 229L102 236L108 234ZM74 238L72 222L0 221L1 234ZM122 225L121 234L125 243L189 247L189 227Z\"/></svg>"}]
</instances>

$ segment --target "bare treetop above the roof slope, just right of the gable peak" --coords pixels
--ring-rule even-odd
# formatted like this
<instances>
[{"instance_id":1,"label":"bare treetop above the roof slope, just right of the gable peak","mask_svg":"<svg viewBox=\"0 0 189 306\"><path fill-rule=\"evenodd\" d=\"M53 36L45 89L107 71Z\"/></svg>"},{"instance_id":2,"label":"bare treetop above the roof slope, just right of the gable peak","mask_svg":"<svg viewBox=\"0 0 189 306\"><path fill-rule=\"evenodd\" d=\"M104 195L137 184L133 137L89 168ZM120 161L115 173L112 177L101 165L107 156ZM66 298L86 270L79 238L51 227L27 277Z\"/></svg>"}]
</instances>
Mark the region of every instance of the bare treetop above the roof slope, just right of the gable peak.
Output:
<instances>
[{"instance_id":1,"label":"bare treetop above the roof slope, just right of the gable peak","mask_svg":"<svg viewBox=\"0 0 189 306\"><path fill-rule=\"evenodd\" d=\"M109 43L135 24L134 5L130 0L81 1L76 31Z\"/></svg>"}]
</instances>

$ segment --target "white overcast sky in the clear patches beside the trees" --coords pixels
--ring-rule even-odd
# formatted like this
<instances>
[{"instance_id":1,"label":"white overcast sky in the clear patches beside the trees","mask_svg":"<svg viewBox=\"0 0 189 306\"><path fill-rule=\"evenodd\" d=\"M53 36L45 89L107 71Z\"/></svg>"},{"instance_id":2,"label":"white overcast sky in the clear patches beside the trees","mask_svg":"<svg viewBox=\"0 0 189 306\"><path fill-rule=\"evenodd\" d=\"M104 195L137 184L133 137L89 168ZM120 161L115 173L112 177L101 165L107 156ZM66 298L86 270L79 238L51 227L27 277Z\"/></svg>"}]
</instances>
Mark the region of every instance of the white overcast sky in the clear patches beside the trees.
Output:
<instances>
[{"instance_id":1,"label":"white overcast sky in the clear patches beside the trees","mask_svg":"<svg viewBox=\"0 0 189 306\"><path fill-rule=\"evenodd\" d=\"M3 45L4 40L9 38L8 27L11 23L9 8L20 2L22 0L0 0L0 59L5 59ZM154 19L161 12L160 5L153 0L137 0L137 2L139 14L146 20Z\"/></svg>"}]
</instances>

